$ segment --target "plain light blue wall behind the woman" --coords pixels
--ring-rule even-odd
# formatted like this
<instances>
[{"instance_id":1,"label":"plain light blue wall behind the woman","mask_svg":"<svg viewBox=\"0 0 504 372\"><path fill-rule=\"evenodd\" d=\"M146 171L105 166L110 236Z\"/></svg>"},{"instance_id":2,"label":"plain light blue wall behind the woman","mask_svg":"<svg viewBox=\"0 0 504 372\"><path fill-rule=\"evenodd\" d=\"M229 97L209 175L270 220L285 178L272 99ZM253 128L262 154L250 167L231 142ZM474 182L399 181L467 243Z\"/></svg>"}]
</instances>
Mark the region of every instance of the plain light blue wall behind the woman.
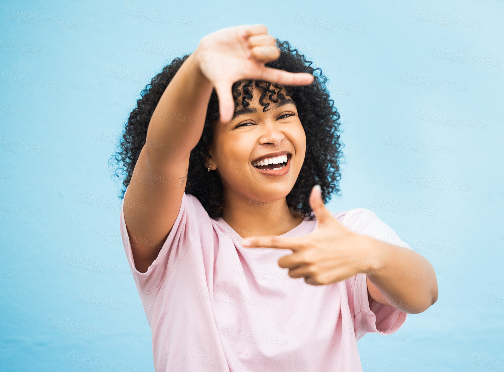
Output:
<instances>
[{"instance_id":1,"label":"plain light blue wall behind the woman","mask_svg":"<svg viewBox=\"0 0 504 372\"><path fill-rule=\"evenodd\" d=\"M429 310L409 314L395 336L359 341L364 370L504 368L490 361L504 359L504 1L130 3L170 20L123 13L124 4L0 7L1 370L91 366L68 364L74 355L154 370L107 161L152 76L208 33L255 23L330 78L345 163L329 209L374 210L437 274ZM34 21L36 13L59 21ZM439 24L443 13L455 21ZM88 263L74 267L75 257ZM108 268L92 271L96 260ZM89 304L88 293L131 305ZM110 331L84 336L51 328L53 319Z\"/></svg>"}]
</instances>

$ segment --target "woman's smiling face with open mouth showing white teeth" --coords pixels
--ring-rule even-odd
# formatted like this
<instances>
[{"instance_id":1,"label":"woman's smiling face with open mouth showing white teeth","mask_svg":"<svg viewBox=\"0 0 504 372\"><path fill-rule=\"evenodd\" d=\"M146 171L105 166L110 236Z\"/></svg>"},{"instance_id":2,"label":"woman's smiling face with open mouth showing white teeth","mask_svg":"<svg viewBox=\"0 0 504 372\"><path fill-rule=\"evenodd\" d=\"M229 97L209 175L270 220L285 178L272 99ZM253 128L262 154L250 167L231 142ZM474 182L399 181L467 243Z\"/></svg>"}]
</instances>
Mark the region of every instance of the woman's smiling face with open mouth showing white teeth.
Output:
<instances>
[{"instance_id":1,"label":"woman's smiling face with open mouth showing white teeth","mask_svg":"<svg viewBox=\"0 0 504 372\"><path fill-rule=\"evenodd\" d=\"M282 199L303 165L306 136L295 102L289 96L277 103L265 97L263 102L270 105L263 112L261 93L254 87L247 108L240 104L230 122L215 124L207 167L213 164L228 200Z\"/></svg>"}]
</instances>

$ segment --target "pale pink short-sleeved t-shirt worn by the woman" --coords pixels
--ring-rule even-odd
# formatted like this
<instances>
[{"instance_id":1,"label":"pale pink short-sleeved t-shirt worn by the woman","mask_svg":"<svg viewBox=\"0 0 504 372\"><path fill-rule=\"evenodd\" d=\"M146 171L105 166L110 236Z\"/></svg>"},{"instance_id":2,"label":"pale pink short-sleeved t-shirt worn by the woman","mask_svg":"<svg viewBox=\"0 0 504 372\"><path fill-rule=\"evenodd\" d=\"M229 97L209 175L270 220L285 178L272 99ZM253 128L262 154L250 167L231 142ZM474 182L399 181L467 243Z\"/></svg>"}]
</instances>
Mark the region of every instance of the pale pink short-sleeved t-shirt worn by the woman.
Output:
<instances>
[{"instance_id":1,"label":"pale pink short-sleeved t-shirt worn by the woman","mask_svg":"<svg viewBox=\"0 0 504 372\"><path fill-rule=\"evenodd\" d=\"M236 231L185 193L158 257L140 273L123 210L124 204L122 242L152 330L157 372L361 372L357 340L392 334L406 320L395 307L369 304L364 273L323 286L290 278L277 262L290 249L242 247ZM333 215L352 231L410 248L368 209ZM315 226L304 220L281 236Z\"/></svg>"}]
</instances>

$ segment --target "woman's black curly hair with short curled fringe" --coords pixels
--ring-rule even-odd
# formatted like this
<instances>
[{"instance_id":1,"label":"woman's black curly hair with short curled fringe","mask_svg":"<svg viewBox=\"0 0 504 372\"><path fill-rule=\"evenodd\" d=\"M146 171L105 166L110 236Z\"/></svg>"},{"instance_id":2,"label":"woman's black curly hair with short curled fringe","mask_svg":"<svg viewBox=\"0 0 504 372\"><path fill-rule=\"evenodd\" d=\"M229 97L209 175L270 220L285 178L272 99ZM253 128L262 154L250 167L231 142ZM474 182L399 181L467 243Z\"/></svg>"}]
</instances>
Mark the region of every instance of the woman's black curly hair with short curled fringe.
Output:
<instances>
[{"instance_id":1,"label":"woman's black curly hair with short curled fringe","mask_svg":"<svg viewBox=\"0 0 504 372\"><path fill-rule=\"evenodd\" d=\"M294 100L306 135L306 151L299 176L287 195L286 201L292 214L313 220L314 216L308 201L311 188L317 184L321 186L324 203L331 199L333 193L340 191L338 188L341 179L339 163L343 157L340 150L342 145L339 142L340 114L326 89L328 79L322 74L322 70L312 68L313 63L307 61L297 49L291 48L288 41L277 39L277 47L280 49L280 57L265 64L266 67L292 73L309 73L314 76L313 82L305 86L279 86L266 81L237 81L232 85L235 109L240 104L242 107L248 106L249 100L253 98L254 86L261 92L259 101L263 105L263 112L270 104L264 102L265 98L271 102L284 100L287 96ZM123 187L119 195L121 199L131 182L135 164L146 142L147 128L154 109L165 88L188 57L190 54L173 59L153 77L150 84L142 90L142 97L137 100L137 107L130 113L128 122L124 126L119 150L113 157L117 163L114 175L123 179ZM214 220L222 216L224 188L216 172L206 172L205 160L212 142L214 125L219 118L219 100L213 89L202 136L191 151L185 185L185 193L198 198L208 215Z\"/></svg>"}]
</instances>

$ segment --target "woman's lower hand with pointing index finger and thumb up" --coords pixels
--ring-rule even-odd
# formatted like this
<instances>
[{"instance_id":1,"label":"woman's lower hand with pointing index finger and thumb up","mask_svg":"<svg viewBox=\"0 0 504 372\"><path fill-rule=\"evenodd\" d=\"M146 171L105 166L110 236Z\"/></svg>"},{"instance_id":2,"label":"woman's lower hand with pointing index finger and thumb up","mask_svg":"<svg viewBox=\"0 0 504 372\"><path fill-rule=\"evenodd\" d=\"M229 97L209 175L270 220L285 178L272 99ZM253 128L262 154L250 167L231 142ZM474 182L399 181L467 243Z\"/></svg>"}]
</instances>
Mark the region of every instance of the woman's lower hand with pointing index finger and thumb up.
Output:
<instances>
[{"instance_id":1,"label":"woman's lower hand with pointing index finger and thumb up","mask_svg":"<svg viewBox=\"0 0 504 372\"><path fill-rule=\"evenodd\" d=\"M352 232L333 217L324 205L320 186L313 187L309 201L318 221L318 227L311 233L296 238L266 238L266 242L244 240L242 245L291 249L293 253L280 257L278 265L289 269L291 278L304 277L311 285L336 283L366 273L369 265L356 262L373 261L367 237Z\"/></svg>"}]
</instances>

